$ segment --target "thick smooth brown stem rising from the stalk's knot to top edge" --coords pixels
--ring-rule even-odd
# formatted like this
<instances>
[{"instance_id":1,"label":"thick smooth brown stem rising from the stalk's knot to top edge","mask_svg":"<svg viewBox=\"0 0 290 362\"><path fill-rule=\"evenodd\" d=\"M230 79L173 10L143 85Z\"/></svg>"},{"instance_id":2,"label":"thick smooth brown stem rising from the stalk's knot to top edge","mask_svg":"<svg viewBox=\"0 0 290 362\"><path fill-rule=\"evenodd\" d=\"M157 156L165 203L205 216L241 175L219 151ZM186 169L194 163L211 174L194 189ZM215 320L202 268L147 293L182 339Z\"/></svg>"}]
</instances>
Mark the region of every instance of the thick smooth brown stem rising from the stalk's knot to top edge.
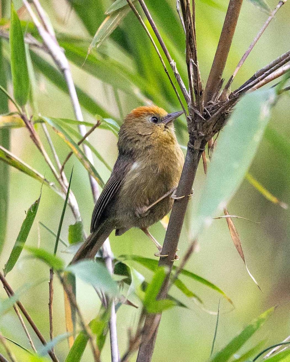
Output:
<instances>
[{"instance_id":1,"label":"thick smooth brown stem rising from the stalk's knot to top edge","mask_svg":"<svg viewBox=\"0 0 290 362\"><path fill-rule=\"evenodd\" d=\"M216 89L223 75L225 63L228 59L233 35L236 30L243 0L230 0L225 16L223 29L221 30L219 44L216 49L215 58L212 63L210 75L208 76L206 89L204 90L204 103L207 104L216 93Z\"/></svg>"}]
</instances>

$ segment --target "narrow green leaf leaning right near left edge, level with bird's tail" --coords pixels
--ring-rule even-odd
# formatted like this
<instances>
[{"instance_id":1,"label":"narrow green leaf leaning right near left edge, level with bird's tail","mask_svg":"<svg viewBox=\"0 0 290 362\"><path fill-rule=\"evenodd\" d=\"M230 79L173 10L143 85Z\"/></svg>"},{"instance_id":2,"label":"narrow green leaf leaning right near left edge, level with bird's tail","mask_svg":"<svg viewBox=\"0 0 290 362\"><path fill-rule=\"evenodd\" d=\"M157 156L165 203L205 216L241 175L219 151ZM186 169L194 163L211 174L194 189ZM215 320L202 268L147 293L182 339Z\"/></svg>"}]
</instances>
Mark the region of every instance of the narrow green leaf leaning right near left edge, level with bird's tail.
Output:
<instances>
[{"instance_id":1,"label":"narrow green leaf leaning right near left edge, level with bird's tail","mask_svg":"<svg viewBox=\"0 0 290 362\"><path fill-rule=\"evenodd\" d=\"M7 273L9 273L9 271L11 271L14 267L14 265L16 264L18 258L20 257L20 254L22 252L22 249L24 247L25 241L28 237L29 231L32 227L32 224L34 222L35 216L36 216L36 212L38 209L38 205L40 202L40 198L41 198L41 194L40 197L36 200L36 202L34 202L28 209L27 213L26 213L26 218L24 219L24 222L22 223L20 232L17 236L16 242L14 244L14 247L11 251L11 254L8 258L7 263L5 264L5 267L3 269L4 272L4 276L7 275Z\"/></svg>"}]
</instances>

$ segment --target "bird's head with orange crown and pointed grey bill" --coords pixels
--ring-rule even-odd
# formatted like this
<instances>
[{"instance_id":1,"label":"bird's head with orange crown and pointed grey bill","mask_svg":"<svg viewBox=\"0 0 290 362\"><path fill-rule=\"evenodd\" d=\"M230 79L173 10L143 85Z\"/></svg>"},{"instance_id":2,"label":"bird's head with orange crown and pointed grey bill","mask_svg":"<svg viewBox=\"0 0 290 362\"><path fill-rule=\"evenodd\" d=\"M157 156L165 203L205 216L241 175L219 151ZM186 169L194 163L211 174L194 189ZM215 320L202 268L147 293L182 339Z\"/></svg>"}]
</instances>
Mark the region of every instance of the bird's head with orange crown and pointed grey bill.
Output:
<instances>
[{"instance_id":1,"label":"bird's head with orange crown and pointed grey bill","mask_svg":"<svg viewBox=\"0 0 290 362\"><path fill-rule=\"evenodd\" d=\"M173 121L183 111L167 113L157 106L142 106L133 109L124 119L119 132L119 148L144 148L154 143L175 142Z\"/></svg>"}]
</instances>

